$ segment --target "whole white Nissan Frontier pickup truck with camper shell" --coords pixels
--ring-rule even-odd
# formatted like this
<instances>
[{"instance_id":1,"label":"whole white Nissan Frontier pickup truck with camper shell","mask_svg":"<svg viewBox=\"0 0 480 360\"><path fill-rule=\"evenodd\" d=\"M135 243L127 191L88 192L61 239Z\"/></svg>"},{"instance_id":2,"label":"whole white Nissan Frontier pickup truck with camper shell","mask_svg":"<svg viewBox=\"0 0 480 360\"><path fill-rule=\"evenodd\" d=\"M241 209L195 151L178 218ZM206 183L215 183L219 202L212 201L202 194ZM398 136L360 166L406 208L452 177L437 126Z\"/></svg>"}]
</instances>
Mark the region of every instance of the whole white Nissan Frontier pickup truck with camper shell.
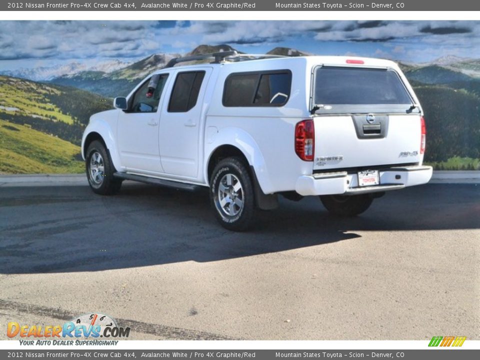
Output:
<instances>
[{"instance_id":1,"label":"whole white Nissan Frontier pickup truck with camper shell","mask_svg":"<svg viewBox=\"0 0 480 360\"><path fill-rule=\"evenodd\" d=\"M92 115L83 134L92 190L116 193L124 179L208 186L230 230L249 228L278 195L319 196L331 213L356 215L432 174L422 165L418 99L388 60L235 51L174 58L114 107Z\"/></svg>"}]
</instances>

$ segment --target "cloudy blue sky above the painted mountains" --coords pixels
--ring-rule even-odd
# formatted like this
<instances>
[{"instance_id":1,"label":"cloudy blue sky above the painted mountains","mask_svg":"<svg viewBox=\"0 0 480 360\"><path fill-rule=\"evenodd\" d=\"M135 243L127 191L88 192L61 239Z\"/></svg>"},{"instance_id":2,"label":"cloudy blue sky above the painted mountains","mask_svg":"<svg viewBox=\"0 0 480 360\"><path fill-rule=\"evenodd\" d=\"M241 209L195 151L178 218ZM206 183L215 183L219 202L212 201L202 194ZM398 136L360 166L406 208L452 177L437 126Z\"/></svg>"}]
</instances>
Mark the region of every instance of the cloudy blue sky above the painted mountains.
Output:
<instances>
[{"instance_id":1,"label":"cloudy blue sky above the painted mountains","mask_svg":"<svg viewBox=\"0 0 480 360\"><path fill-rule=\"evenodd\" d=\"M223 43L254 53L285 46L418 63L480 58L479 34L480 21L0 21L0 70L133 61Z\"/></svg>"}]
</instances>

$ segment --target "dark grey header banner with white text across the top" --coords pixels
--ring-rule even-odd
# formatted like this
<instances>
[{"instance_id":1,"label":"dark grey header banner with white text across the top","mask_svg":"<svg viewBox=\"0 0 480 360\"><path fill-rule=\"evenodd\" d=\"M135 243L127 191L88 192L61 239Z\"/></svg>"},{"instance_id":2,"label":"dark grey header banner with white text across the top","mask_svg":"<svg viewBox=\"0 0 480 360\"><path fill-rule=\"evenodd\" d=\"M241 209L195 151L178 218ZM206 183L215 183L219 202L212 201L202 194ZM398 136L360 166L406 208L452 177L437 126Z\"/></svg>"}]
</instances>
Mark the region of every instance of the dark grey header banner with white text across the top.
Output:
<instances>
[{"instance_id":1,"label":"dark grey header banner with white text across the top","mask_svg":"<svg viewBox=\"0 0 480 360\"><path fill-rule=\"evenodd\" d=\"M1 2L0 11L476 11L471 0L32 0Z\"/></svg>"}]
</instances>

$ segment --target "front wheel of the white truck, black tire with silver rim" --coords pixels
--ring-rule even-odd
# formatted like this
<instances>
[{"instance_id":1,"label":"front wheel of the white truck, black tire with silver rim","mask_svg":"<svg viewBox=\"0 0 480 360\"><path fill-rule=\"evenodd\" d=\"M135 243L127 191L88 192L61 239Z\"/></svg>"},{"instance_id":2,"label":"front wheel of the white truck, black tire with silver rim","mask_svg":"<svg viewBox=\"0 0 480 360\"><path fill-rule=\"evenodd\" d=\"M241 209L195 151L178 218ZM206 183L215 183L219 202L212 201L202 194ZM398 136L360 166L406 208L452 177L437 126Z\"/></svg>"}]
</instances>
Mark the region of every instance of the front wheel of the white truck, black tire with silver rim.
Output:
<instances>
[{"instance_id":1,"label":"front wheel of the white truck, black tire with silver rim","mask_svg":"<svg viewBox=\"0 0 480 360\"><path fill-rule=\"evenodd\" d=\"M120 190L122 180L113 177L113 172L115 172L113 163L105 145L98 140L94 140L88 145L85 171L88 184L93 192L112 195Z\"/></svg>"}]
</instances>

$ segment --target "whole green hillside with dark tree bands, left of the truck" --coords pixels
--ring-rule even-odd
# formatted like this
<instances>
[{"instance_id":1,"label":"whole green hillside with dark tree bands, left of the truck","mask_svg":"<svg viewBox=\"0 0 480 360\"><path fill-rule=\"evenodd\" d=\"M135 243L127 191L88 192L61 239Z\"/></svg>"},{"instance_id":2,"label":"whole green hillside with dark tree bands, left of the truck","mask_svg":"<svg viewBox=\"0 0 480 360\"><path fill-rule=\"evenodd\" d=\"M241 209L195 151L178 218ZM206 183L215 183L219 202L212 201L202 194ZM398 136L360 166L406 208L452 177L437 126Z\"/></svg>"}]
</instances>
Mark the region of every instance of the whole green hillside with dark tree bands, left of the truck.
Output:
<instances>
[{"instance_id":1,"label":"whole green hillside with dark tree bands, left of the truck","mask_svg":"<svg viewBox=\"0 0 480 360\"><path fill-rule=\"evenodd\" d=\"M83 171L83 129L110 103L73 87L0 76L0 173Z\"/></svg>"}]
</instances>

